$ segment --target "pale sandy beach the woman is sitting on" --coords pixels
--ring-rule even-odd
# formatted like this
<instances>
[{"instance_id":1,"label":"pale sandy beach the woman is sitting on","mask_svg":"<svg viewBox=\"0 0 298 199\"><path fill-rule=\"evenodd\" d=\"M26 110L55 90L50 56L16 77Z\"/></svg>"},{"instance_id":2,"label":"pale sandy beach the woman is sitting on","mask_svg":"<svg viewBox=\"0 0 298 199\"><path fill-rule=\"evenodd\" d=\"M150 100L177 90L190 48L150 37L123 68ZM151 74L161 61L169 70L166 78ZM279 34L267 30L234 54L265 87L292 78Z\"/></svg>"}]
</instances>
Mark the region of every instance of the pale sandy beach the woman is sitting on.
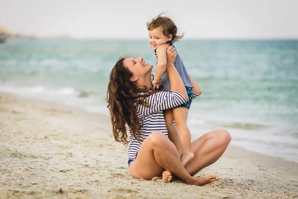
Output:
<instances>
[{"instance_id":1,"label":"pale sandy beach the woman is sitting on","mask_svg":"<svg viewBox=\"0 0 298 199\"><path fill-rule=\"evenodd\" d=\"M229 146L202 187L133 179L109 118L0 93L0 198L290 199L298 163Z\"/></svg>"}]
</instances>

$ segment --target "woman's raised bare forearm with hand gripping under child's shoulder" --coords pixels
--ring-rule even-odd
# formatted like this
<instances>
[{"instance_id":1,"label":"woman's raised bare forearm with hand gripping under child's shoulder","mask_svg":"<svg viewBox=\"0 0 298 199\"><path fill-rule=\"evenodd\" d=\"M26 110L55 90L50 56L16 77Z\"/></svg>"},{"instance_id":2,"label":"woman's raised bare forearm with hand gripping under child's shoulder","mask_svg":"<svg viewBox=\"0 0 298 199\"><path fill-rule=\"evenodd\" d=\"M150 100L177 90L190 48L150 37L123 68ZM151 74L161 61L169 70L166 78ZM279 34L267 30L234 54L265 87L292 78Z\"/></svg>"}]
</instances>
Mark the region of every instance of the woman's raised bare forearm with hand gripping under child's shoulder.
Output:
<instances>
[{"instance_id":1,"label":"woman's raised bare forearm with hand gripping under child's shoulder","mask_svg":"<svg viewBox=\"0 0 298 199\"><path fill-rule=\"evenodd\" d=\"M186 100L188 100L188 95L184 86L184 83L174 66L174 61L176 59L176 51L173 46L169 46L166 50L167 56L167 64L166 64L166 72L168 73L170 83L171 83L171 91L176 91L181 94Z\"/></svg>"}]
</instances>

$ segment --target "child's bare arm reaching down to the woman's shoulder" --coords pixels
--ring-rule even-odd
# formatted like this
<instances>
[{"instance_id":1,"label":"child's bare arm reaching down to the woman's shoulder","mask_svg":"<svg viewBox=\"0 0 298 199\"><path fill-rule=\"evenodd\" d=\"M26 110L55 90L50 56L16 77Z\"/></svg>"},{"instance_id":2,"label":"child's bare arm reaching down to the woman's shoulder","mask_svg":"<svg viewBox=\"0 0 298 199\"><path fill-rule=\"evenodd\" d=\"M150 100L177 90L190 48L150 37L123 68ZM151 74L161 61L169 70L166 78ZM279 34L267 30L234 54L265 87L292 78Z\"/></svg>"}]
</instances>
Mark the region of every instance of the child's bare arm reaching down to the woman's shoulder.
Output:
<instances>
[{"instance_id":1,"label":"child's bare arm reaching down to the woman's shoulder","mask_svg":"<svg viewBox=\"0 0 298 199\"><path fill-rule=\"evenodd\" d=\"M158 58L158 62L156 64L155 74L154 74L154 80L152 82L153 86L156 86L157 89L159 88L159 85L161 85L161 76L163 72L165 71L166 66L166 49L170 46L170 44L162 44L158 46L156 49L156 55Z\"/></svg>"}]
</instances>

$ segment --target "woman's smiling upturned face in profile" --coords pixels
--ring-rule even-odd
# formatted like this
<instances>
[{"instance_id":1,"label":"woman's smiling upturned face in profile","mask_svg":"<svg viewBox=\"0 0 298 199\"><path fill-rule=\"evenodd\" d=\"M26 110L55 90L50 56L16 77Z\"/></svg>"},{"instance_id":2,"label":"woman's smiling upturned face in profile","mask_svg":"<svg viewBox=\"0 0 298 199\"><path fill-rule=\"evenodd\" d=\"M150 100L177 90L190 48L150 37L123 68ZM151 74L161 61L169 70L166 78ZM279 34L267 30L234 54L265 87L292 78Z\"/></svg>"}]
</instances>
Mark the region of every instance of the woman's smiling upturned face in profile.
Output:
<instances>
[{"instance_id":1,"label":"woman's smiling upturned face in profile","mask_svg":"<svg viewBox=\"0 0 298 199\"><path fill-rule=\"evenodd\" d=\"M123 61L125 67L127 67L134 75L134 77L141 79L146 76L151 77L152 65L147 64L143 57L140 58L126 58Z\"/></svg>"}]
</instances>

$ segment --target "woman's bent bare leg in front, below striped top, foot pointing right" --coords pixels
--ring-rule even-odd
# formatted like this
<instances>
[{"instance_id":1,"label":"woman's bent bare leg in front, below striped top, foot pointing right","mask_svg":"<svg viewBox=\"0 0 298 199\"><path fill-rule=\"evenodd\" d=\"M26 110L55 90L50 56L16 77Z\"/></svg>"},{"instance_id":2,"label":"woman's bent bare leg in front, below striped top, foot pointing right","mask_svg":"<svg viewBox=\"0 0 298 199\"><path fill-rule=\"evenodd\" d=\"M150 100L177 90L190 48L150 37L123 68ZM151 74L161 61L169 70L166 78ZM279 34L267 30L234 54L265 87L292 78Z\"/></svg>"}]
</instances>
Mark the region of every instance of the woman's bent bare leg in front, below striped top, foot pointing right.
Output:
<instances>
[{"instance_id":1,"label":"woman's bent bare leg in front, below striped top, foot pointing right","mask_svg":"<svg viewBox=\"0 0 298 199\"><path fill-rule=\"evenodd\" d=\"M134 178L152 179L167 170L189 185L204 185L216 181L218 176L208 174L199 178L191 177L180 162L175 145L160 131L154 131L144 140L138 156L130 166Z\"/></svg>"}]
</instances>

